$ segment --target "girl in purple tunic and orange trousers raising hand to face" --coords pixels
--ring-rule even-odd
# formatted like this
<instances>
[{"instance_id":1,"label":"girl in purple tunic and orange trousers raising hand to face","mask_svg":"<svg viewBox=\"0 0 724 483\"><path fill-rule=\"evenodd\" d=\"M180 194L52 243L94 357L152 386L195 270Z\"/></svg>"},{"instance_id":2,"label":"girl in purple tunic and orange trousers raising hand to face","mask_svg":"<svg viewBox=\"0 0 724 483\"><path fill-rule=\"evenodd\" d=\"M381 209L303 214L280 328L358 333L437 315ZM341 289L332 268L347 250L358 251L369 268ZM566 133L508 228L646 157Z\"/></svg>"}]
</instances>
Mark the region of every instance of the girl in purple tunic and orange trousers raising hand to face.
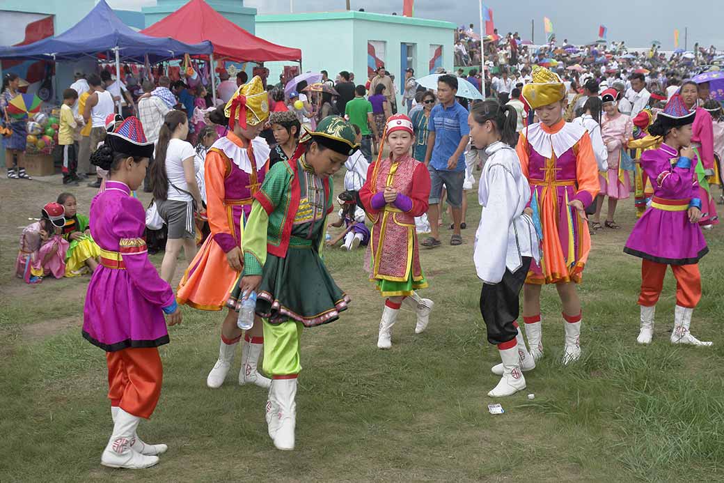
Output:
<instances>
[{"instance_id":1,"label":"girl in purple tunic and orange trousers raising hand to face","mask_svg":"<svg viewBox=\"0 0 724 483\"><path fill-rule=\"evenodd\" d=\"M691 147L691 125L696 112L686 107L678 94L671 96L663 112L649 128L662 136L658 149L641 154L644 168L654 184L654 196L644 215L636 221L626 247L628 255L641 258L641 326L636 342L649 344L654 333L654 315L667 265L676 278L676 307L672 344L710 346L691 334L691 315L702 297L699 260L709 252L701 227L702 200L696 181Z\"/></svg>"}]
</instances>

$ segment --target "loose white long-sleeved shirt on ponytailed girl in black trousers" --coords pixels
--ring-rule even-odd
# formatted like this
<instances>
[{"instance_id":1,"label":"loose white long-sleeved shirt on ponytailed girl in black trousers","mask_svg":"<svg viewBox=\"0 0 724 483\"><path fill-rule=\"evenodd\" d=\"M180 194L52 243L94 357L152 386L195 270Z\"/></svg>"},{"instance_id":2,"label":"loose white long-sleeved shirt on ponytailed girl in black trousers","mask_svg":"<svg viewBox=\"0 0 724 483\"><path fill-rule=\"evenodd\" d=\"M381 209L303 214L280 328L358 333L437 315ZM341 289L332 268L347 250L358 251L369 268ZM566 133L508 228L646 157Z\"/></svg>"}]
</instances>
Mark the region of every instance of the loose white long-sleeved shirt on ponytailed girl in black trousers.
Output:
<instances>
[{"instance_id":1,"label":"loose white long-sleeved shirt on ponytailed girl in black trousers","mask_svg":"<svg viewBox=\"0 0 724 483\"><path fill-rule=\"evenodd\" d=\"M511 273L521 269L523 257L539 260L538 236L533 221L523 213L531 188L515 149L497 141L485 152L488 160L478 186L483 211L475 233L473 262L482 281L497 284L506 269Z\"/></svg>"}]
</instances>

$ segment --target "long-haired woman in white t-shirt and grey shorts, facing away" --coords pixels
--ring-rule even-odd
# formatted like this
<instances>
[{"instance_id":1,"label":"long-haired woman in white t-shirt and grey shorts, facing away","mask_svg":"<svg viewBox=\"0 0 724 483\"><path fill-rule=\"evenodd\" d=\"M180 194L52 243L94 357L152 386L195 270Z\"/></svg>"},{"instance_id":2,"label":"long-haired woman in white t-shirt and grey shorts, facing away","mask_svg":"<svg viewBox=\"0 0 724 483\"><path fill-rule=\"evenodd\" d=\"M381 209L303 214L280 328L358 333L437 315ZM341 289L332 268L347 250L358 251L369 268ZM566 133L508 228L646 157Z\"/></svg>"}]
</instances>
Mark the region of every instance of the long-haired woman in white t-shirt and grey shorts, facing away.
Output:
<instances>
[{"instance_id":1,"label":"long-haired woman in white t-shirt and grey shorts, facing away","mask_svg":"<svg viewBox=\"0 0 724 483\"><path fill-rule=\"evenodd\" d=\"M184 141L188 136L188 117L180 110L169 111L159 131L151 183L159 215L168 227L166 253L161 263L161 278L171 282L176 261L184 249L186 260L196 255L194 217L201 215L201 193L196 183L195 150Z\"/></svg>"}]
</instances>

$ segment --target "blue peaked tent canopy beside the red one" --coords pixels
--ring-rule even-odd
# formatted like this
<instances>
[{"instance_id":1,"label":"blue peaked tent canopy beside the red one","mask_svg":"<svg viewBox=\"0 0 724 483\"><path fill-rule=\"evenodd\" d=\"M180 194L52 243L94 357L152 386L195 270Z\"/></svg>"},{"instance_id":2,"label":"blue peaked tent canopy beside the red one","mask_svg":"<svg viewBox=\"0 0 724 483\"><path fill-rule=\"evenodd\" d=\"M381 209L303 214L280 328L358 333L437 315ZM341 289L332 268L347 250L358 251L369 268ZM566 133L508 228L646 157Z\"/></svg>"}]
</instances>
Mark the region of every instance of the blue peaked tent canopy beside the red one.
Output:
<instances>
[{"instance_id":1,"label":"blue peaked tent canopy beside the red one","mask_svg":"<svg viewBox=\"0 0 724 483\"><path fill-rule=\"evenodd\" d=\"M59 36L23 46L0 47L0 59L75 60L115 49L123 59L143 62L148 54L150 62L159 62L183 54L211 54L214 47L209 41L184 44L173 38L135 32L101 0L80 22Z\"/></svg>"}]
</instances>

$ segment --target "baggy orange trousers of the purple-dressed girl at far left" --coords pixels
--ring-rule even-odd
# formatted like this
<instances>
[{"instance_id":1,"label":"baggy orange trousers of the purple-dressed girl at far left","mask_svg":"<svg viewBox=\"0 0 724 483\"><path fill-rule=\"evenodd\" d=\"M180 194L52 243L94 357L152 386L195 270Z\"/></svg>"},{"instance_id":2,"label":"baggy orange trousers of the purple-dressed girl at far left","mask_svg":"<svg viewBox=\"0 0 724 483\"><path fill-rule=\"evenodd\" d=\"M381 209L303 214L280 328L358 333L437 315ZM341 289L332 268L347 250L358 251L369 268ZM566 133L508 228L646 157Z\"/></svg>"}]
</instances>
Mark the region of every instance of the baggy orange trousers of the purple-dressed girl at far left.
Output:
<instances>
[{"instance_id":1,"label":"baggy orange trousers of the purple-dressed girl at far left","mask_svg":"<svg viewBox=\"0 0 724 483\"><path fill-rule=\"evenodd\" d=\"M164 368L157 347L129 347L106 352L111 406L150 418L161 396Z\"/></svg>"}]
</instances>

